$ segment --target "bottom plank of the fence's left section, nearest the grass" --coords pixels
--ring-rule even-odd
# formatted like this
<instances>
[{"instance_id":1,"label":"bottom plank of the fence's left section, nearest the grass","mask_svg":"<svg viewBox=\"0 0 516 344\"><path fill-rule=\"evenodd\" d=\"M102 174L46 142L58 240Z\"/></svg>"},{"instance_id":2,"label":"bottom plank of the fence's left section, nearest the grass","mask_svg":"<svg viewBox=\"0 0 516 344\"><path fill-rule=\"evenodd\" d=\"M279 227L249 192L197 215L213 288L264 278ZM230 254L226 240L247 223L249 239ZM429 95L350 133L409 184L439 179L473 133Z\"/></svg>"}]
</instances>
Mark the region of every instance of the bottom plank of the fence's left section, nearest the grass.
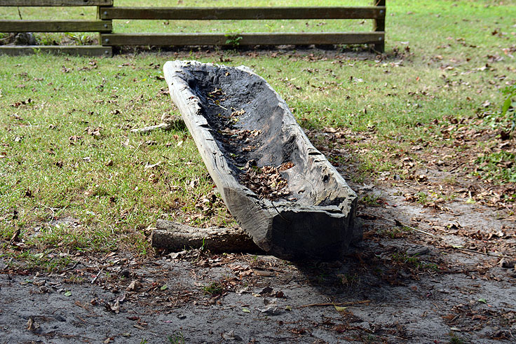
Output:
<instances>
[{"instance_id":1,"label":"bottom plank of the fence's left section, nearest the grass","mask_svg":"<svg viewBox=\"0 0 516 344\"><path fill-rule=\"evenodd\" d=\"M0 46L0 55L18 56L36 53L111 57L113 50L106 46Z\"/></svg>"}]
</instances>

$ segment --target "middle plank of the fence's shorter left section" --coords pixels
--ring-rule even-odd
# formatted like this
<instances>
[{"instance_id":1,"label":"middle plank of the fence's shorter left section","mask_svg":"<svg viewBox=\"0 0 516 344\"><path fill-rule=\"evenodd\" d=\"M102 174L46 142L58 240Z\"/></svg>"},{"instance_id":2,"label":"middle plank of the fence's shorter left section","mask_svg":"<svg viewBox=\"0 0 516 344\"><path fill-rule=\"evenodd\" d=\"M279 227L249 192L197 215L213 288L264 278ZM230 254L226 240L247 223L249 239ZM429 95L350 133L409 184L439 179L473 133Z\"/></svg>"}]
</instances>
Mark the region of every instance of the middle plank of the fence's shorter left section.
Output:
<instances>
[{"instance_id":1,"label":"middle plank of the fence's shorter left section","mask_svg":"<svg viewBox=\"0 0 516 344\"><path fill-rule=\"evenodd\" d=\"M0 32L111 32L110 20L0 20Z\"/></svg>"}]
</instances>

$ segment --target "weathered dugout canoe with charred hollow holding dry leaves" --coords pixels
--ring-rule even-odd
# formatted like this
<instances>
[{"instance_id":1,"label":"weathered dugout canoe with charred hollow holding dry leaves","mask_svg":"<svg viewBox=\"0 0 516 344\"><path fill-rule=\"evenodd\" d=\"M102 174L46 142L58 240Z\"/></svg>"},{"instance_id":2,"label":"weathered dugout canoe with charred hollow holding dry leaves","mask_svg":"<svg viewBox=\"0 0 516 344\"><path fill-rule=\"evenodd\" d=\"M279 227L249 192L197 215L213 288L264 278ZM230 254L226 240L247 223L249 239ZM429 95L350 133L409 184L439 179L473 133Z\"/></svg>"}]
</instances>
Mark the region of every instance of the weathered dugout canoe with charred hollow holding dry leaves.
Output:
<instances>
[{"instance_id":1,"label":"weathered dugout canoe with charred hollow holding dry leaves","mask_svg":"<svg viewBox=\"0 0 516 344\"><path fill-rule=\"evenodd\" d=\"M222 200L252 240L289 260L345 253L357 196L264 78L196 61L163 70Z\"/></svg>"}]
</instances>

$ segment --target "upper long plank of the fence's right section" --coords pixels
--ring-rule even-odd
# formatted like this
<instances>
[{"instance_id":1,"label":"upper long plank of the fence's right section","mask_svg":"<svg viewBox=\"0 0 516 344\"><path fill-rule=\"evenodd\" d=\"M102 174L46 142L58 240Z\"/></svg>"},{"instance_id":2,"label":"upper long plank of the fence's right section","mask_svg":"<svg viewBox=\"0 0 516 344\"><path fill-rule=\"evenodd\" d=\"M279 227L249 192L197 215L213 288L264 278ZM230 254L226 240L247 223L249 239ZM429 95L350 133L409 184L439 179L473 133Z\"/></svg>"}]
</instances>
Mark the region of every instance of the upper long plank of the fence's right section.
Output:
<instances>
[{"instance_id":1,"label":"upper long plank of the fence's right section","mask_svg":"<svg viewBox=\"0 0 516 344\"><path fill-rule=\"evenodd\" d=\"M100 9L101 19L375 19L381 18L379 6L364 7L110 7Z\"/></svg>"}]
</instances>

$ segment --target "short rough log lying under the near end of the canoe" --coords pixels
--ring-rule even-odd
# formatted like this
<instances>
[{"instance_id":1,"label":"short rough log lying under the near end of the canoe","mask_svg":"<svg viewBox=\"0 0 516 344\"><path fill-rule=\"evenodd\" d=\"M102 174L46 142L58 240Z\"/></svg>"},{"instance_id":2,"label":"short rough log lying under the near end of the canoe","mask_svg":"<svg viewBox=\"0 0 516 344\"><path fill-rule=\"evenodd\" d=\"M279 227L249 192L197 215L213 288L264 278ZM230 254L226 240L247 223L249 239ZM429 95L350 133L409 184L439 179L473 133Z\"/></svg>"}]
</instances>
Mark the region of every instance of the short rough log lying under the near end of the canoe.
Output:
<instances>
[{"instance_id":1,"label":"short rough log lying under the near end of the canoe","mask_svg":"<svg viewBox=\"0 0 516 344\"><path fill-rule=\"evenodd\" d=\"M195 228L166 220L156 221L151 245L168 251L200 247L214 253L262 251L241 228Z\"/></svg>"}]
</instances>

